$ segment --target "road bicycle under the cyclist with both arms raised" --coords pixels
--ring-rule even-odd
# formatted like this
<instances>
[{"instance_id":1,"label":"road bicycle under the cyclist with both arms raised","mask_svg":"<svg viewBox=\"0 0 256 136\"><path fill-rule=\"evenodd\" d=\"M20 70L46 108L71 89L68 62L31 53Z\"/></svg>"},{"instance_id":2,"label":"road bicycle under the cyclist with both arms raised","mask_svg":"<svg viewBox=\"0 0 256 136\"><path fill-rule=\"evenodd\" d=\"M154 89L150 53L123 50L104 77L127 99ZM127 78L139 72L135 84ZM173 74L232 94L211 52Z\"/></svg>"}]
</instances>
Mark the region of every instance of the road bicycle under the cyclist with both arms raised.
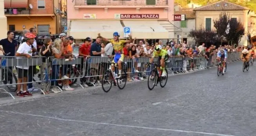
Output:
<instances>
[{"instance_id":1,"label":"road bicycle under the cyclist with both arms raised","mask_svg":"<svg viewBox=\"0 0 256 136\"><path fill-rule=\"evenodd\" d=\"M124 62L123 65L123 69L122 69L122 74L121 74L121 78L117 78L117 75L114 73L114 71L112 71L111 69L111 64L112 62L106 63L107 67L109 67L109 69L107 69L102 77L102 89L104 92L109 92L109 90L111 89L112 85L116 85L118 86L118 88L120 90L122 90L127 82L127 63ZM115 66L115 68L117 68ZM105 88L104 85L110 85L109 88ZM123 85L123 87L122 87Z\"/></svg>"}]
</instances>

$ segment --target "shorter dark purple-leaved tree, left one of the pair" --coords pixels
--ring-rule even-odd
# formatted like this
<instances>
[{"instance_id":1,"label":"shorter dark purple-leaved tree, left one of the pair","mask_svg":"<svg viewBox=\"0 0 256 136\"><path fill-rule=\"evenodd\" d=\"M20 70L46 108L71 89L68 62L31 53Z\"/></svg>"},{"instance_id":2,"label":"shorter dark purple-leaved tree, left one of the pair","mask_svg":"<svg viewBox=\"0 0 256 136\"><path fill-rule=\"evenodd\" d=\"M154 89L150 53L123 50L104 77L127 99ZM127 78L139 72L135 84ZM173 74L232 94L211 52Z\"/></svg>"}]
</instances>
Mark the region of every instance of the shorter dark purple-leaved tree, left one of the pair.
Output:
<instances>
[{"instance_id":1,"label":"shorter dark purple-leaved tree, left one of the pair","mask_svg":"<svg viewBox=\"0 0 256 136\"><path fill-rule=\"evenodd\" d=\"M217 40L217 33L215 30L205 30L205 28L200 27L195 30L192 29L189 32L188 37L194 38L197 44L201 44L202 42L210 42L211 44L215 43Z\"/></svg>"}]
</instances>

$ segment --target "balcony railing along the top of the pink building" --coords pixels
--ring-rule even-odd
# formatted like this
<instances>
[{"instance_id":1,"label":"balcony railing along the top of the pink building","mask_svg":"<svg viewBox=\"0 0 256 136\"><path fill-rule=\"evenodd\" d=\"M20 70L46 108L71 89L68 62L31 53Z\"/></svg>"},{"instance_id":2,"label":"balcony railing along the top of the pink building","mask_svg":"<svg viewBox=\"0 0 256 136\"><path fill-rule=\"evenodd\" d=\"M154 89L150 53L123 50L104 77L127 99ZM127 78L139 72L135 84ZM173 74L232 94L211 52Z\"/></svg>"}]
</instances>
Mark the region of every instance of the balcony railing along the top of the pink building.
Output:
<instances>
[{"instance_id":1,"label":"balcony railing along the top of the pink building","mask_svg":"<svg viewBox=\"0 0 256 136\"><path fill-rule=\"evenodd\" d=\"M75 5L168 5L168 0L75 0Z\"/></svg>"}]
</instances>

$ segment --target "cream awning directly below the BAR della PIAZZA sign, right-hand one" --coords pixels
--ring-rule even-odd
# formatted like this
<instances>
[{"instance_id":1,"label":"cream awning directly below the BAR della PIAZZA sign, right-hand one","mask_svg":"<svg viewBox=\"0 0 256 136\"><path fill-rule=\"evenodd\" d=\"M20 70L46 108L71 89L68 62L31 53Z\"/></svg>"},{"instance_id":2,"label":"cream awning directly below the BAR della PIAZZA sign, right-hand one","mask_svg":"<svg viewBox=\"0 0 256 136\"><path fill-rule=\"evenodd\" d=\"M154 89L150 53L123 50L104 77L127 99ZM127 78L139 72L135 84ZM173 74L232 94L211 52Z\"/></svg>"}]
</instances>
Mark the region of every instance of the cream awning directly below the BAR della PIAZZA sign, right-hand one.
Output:
<instances>
[{"instance_id":1,"label":"cream awning directly below the BAR della PIAZZA sign, right-hand one","mask_svg":"<svg viewBox=\"0 0 256 136\"><path fill-rule=\"evenodd\" d=\"M168 39L168 31L158 21L123 21L131 27L131 35L137 39Z\"/></svg>"}]
</instances>

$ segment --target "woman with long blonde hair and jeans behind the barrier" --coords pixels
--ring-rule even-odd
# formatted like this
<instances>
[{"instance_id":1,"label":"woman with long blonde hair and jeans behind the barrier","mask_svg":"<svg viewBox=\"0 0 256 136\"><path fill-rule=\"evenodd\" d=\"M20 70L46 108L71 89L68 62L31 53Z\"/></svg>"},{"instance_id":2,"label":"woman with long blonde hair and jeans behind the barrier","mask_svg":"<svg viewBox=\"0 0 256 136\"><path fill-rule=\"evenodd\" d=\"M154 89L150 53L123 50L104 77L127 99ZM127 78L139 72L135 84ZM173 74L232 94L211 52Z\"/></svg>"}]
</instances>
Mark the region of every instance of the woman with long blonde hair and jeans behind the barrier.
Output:
<instances>
[{"instance_id":1,"label":"woman with long blonde hair and jeans behind the barrier","mask_svg":"<svg viewBox=\"0 0 256 136\"><path fill-rule=\"evenodd\" d=\"M56 38L53 42L52 45L52 51L55 56L55 58L60 58L62 56L62 53L64 52L64 46L62 46L62 40L60 38ZM60 78L60 65L52 65L52 74L51 74L51 79L59 79ZM56 86L57 81L53 81L51 85ZM55 87L52 88L54 93L59 93L61 92L60 90L57 90Z\"/></svg>"}]
</instances>

